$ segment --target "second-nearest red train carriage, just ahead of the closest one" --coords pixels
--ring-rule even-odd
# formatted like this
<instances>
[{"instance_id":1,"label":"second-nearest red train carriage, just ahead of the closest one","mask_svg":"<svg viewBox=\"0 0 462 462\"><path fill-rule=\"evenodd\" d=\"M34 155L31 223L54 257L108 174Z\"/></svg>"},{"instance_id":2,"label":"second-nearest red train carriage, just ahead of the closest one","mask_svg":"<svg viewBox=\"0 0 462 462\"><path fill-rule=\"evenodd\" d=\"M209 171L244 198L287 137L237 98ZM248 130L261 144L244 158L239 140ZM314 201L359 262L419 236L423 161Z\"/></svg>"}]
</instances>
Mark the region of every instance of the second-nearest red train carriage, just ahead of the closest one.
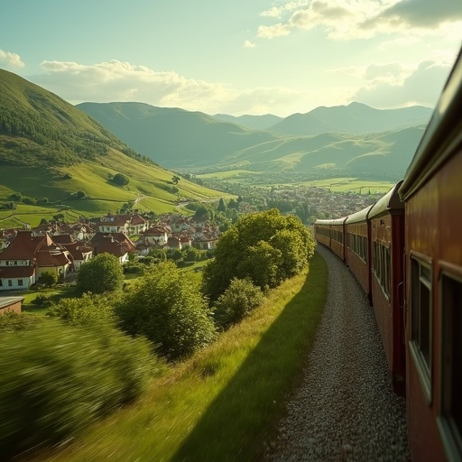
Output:
<instances>
[{"instance_id":1,"label":"second-nearest red train carriage, just ahead of the closest one","mask_svg":"<svg viewBox=\"0 0 462 462\"><path fill-rule=\"evenodd\" d=\"M398 194L402 181L370 208L371 293L393 390L404 394L405 350L402 316L404 203Z\"/></svg>"}]
</instances>

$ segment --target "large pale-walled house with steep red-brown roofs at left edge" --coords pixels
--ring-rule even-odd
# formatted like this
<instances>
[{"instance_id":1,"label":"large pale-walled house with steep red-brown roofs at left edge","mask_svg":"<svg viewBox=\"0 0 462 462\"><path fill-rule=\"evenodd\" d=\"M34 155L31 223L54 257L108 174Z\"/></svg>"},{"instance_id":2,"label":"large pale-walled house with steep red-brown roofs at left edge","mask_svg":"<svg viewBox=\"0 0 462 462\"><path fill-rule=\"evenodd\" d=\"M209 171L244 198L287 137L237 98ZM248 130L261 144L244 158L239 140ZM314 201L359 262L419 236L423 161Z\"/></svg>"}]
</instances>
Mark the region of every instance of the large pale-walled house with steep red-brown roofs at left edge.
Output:
<instances>
[{"instance_id":1,"label":"large pale-walled house with steep red-brown roofs at left edge","mask_svg":"<svg viewBox=\"0 0 462 462\"><path fill-rule=\"evenodd\" d=\"M18 231L11 244L0 254L0 291L28 289L42 273L65 280L72 272L72 256L51 236L32 236Z\"/></svg>"}]
</instances>

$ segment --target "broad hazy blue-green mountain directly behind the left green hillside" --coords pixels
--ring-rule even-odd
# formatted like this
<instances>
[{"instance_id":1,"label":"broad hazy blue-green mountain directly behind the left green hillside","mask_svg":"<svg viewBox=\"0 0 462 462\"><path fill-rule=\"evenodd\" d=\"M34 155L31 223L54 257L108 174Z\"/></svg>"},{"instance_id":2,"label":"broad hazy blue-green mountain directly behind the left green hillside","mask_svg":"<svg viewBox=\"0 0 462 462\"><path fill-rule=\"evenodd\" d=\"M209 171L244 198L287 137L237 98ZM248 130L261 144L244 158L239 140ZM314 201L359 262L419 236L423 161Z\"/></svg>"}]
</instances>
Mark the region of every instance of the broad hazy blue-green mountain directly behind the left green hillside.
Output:
<instances>
[{"instance_id":1,"label":"broad hazy blue-green mountain directly behind the left green hillside","mask_svg":"<svg viewBox=\"0 0 462 462\"><path fill-rule=\"evenodd\" d=\"M77 107L137 152L171 169L213 165L236 151L280 137L179 108L144 103L82 103Z\"/></svg>"}]
</instances>

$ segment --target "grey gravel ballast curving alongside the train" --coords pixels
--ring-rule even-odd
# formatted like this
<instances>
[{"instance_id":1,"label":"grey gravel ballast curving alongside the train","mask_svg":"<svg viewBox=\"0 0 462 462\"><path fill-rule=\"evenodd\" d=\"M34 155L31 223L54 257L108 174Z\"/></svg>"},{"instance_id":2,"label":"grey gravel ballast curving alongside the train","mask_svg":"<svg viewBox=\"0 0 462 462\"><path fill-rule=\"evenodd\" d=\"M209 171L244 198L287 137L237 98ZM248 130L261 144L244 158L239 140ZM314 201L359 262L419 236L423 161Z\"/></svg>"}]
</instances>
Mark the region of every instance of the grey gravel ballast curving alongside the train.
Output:
<instances>
[{"instance_id":1,"label":"grey gravel ballast curving alongside the train","mask_svg":"<svg viewBox=\"0 0 462 462\"><path fill-rule=\"evenodd\" d=\"M374 310L347 266L322 245L317 252L328 301L265 460L409 461L405 401L393 393Z\"/></svg>"}]
</instances>

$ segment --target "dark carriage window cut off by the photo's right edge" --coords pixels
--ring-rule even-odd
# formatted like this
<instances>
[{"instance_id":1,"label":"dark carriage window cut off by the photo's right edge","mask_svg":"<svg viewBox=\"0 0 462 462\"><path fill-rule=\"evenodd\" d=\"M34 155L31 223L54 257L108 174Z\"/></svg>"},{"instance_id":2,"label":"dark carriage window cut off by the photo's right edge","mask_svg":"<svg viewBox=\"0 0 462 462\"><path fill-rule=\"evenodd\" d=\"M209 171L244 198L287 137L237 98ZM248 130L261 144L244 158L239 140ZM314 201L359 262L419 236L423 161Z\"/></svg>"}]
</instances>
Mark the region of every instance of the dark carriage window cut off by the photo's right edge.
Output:
<instances>
[{"instance_id":1,"label":"dark carriage window cut off by the photo's right edge","mask_svg":"<svg viewBox=\"0 0 462 462\"><path fill-rule=\"evenodd\" d=\"M462 456L462 280L443 273L442 302L442 402L443 431L448 441L449 459ZM457 455L457 457L456 457Z\"/></svg>"}]
</instances>

